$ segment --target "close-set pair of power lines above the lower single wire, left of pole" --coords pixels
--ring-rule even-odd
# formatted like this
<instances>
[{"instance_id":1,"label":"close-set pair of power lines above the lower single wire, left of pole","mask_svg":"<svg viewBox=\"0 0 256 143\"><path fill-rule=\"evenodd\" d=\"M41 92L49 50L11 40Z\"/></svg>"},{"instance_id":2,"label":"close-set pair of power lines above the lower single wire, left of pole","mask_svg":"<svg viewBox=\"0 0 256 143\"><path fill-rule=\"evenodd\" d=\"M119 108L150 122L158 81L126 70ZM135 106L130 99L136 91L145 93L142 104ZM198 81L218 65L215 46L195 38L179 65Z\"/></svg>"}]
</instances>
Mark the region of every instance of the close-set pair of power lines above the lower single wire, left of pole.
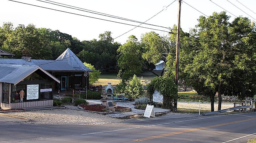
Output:
<instances>
[{"instance_id":1,"label":"close-set pair of power lines above the lower single wire, left of pole","mask_svg":"<svg viewBox=\"0 0 256 143\"><path fill-rule=\"evenodd\" d=\"M45 1L36 0L36 1L45 2L45 1L48 1L48 0L45 0ZM52 2L52 1L45 2L45 3L49 3L49 4L52 4L52 5L62 4L62 3L54 4L54 3L57 3L57 2L54 2L54 3L51 3L51 2ZM74 8L71 8L71 9L75 9L75 10L78 10L78 11L85 11L85 10L86 10L85 12L89 12L89 13L92 13L92 14L98 14L98 15L107 16L107 17L111 17L111 18L117 18L117 19L121 19L121 20L126 20L126 21L131 21L131 22L136 22L136 23L147 24L147 25L151 25L151 26L158 26L158 25L148 24L148 23L145 23L145 22L143 23L143 22L140 22L140 21L131 20L131 19L127 19L127 18L117 17L117 16L114 16L114 15L99 13L99 12L97 12L97 11L91 12L91 10L87 10L87 9L84 9L84 8L79 8L79 9L77 9L78 7L71 6L71 5L67 5L67 6L71 6L71 7L67 7L67 6L63 6L63 5L65 5L65 4L58 5L58 6L62 6L62 7L65 7L65 8L74 7ZM84 10L81 10L81 9L84 9ZM95 12L97 12L97 13L95 13ZM162 28L168 29L167 27L164 27L164 26L158 26L158 27L162 27Z\"/></svg>"}]
</instances>

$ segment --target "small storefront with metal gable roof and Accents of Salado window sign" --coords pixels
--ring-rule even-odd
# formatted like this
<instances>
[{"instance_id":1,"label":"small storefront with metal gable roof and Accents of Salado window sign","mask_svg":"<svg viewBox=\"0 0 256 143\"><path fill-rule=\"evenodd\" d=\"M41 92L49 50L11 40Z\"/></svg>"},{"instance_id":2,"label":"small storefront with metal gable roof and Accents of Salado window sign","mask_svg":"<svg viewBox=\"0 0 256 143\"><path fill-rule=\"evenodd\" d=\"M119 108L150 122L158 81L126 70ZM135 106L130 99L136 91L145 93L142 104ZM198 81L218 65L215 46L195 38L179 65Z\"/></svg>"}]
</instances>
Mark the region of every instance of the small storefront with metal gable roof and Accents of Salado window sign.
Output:
<instances>
[{"instance_id":1,"label":"small storefront with metal gable roof and Accents of Salado window sign","mask_svg":"<svg viewBox=\"0 0 256 143\"><path fill-rule=\"evenodd\" d=\"M60 80L33 65L0 64L0 106L3 109L53 105L53 84Z\"/></svg>"}]
</instances>

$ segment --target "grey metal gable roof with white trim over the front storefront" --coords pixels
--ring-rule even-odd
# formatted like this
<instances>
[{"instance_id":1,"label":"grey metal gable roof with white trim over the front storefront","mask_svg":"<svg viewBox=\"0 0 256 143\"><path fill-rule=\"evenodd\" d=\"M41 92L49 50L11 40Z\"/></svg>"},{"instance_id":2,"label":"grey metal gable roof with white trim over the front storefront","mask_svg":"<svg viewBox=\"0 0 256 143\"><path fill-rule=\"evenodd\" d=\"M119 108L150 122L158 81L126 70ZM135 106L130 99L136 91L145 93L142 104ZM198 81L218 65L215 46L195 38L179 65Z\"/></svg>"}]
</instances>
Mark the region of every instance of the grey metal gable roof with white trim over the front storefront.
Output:
<instances>
[{"instance_id":1,"label":"grey metal gable roof with white trim over the front storefront","mask_svg":"<svg viewBox=\"0 0 256 143\"><path fill-rule=\"evenodd\" d=\"M58 79L39 66L8 64L0 64L0 82L12 83L16 85L36 70L41 70L46 75L60 83Z\"/></svg>"}]
</instances>

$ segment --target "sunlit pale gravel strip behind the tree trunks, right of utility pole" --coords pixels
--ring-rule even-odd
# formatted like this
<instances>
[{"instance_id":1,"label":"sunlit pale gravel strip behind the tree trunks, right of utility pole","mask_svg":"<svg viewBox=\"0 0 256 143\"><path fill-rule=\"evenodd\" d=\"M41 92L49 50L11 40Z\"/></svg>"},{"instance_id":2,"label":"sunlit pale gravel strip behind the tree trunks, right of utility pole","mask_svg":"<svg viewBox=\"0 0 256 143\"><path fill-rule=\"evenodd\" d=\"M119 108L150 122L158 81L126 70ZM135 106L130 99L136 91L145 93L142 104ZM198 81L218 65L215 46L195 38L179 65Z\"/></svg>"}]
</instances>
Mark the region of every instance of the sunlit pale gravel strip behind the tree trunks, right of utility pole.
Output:
<instances>
[{"instance_id":1,"label":"sunlit pale gravel strip behind the tree trunks, right of utility pole","mask_svg":"<svg viewBox=\"0 0 256 143\"><path fill-rule=\"evenodd\" d=\"M221 104L221 109L227 109L234 107L233 103L222 103ZM199 108L199 102L194 102L194 101L178 101L178 108L187 108L187 109L198 109ZM204 102L200 104L200 109L201 110L211 110L211 103ZM218 103L214 103L214 110L218 110Z\"/></svg>"}]
</instances>

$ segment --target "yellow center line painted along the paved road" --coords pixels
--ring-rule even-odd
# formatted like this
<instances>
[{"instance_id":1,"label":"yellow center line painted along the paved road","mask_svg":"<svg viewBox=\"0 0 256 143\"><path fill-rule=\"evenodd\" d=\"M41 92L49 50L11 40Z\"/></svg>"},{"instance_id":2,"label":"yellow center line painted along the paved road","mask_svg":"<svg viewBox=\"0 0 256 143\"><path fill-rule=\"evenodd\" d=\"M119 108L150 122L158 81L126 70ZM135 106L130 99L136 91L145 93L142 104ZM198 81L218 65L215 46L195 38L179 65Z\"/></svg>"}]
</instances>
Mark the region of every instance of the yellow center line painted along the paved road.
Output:
<instances>
[{"instance_id":1,"label":"yellow center line painted along the paved road","mask_svg":"<svg viewBox=\"0 0 256 143\"><path fill-rule=\"evenodd\" d=\"M188 130L183 130L183 131L179 131L179 132L171 132L171 133L168 133L168 134L162 134L162 135L156 135L156 136L151 136L151 137L147 137L147 138L135 139L134 141L144 141L144 140L153 139L153 138L161 138L161 137L165 137L165 136L169 136L169 135L176 135L176 134L181 134L181 133L185 133L185 132L192 132L192 131L196 131L196 130L200 130L200 129L207 129L207 128L211 128L211 127L234 124L234 123L239 123L239 122L244 122L244 121L254 120L254 119L256 119L256 118L234 121L234 122L223 123L223 124L217 124L217 125L212 125L212 126L205 126L205 127L195 128L195 129L188 129Z\"/></svg>"}]
</instances>

